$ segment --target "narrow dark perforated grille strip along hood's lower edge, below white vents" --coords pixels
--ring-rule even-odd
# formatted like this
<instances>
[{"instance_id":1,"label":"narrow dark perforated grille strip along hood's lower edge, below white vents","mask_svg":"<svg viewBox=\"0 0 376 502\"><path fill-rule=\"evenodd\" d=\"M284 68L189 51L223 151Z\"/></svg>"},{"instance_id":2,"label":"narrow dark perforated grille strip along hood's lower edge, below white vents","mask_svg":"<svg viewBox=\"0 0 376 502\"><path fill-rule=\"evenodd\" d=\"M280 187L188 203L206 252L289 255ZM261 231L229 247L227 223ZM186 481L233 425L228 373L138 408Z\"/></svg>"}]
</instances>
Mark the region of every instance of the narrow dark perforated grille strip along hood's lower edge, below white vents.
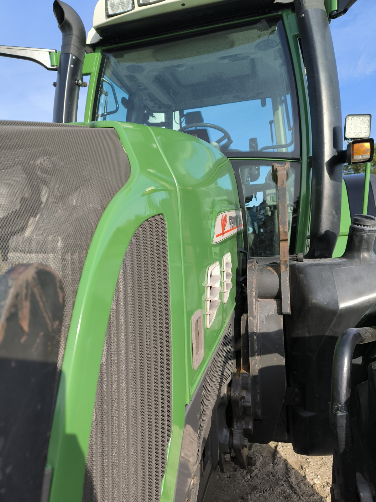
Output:
<instances>
[{"instance_id":1,"label":"narrow dark perforated grille strip along hood's lower edge, below white vents","mask_svg":"<svg viewBox=\"0 0 376 502\"><path fill-rule=\"evenodd\" d=\"M201 446L207 425L212 417L212 410L221 393L222 387L231 379L234 371L234 362L233 324L231 322L222 338L221 346L211 363L204 381L199 434L197 437L197 462L200 460Z\"/></svg>"}]
</instances>

